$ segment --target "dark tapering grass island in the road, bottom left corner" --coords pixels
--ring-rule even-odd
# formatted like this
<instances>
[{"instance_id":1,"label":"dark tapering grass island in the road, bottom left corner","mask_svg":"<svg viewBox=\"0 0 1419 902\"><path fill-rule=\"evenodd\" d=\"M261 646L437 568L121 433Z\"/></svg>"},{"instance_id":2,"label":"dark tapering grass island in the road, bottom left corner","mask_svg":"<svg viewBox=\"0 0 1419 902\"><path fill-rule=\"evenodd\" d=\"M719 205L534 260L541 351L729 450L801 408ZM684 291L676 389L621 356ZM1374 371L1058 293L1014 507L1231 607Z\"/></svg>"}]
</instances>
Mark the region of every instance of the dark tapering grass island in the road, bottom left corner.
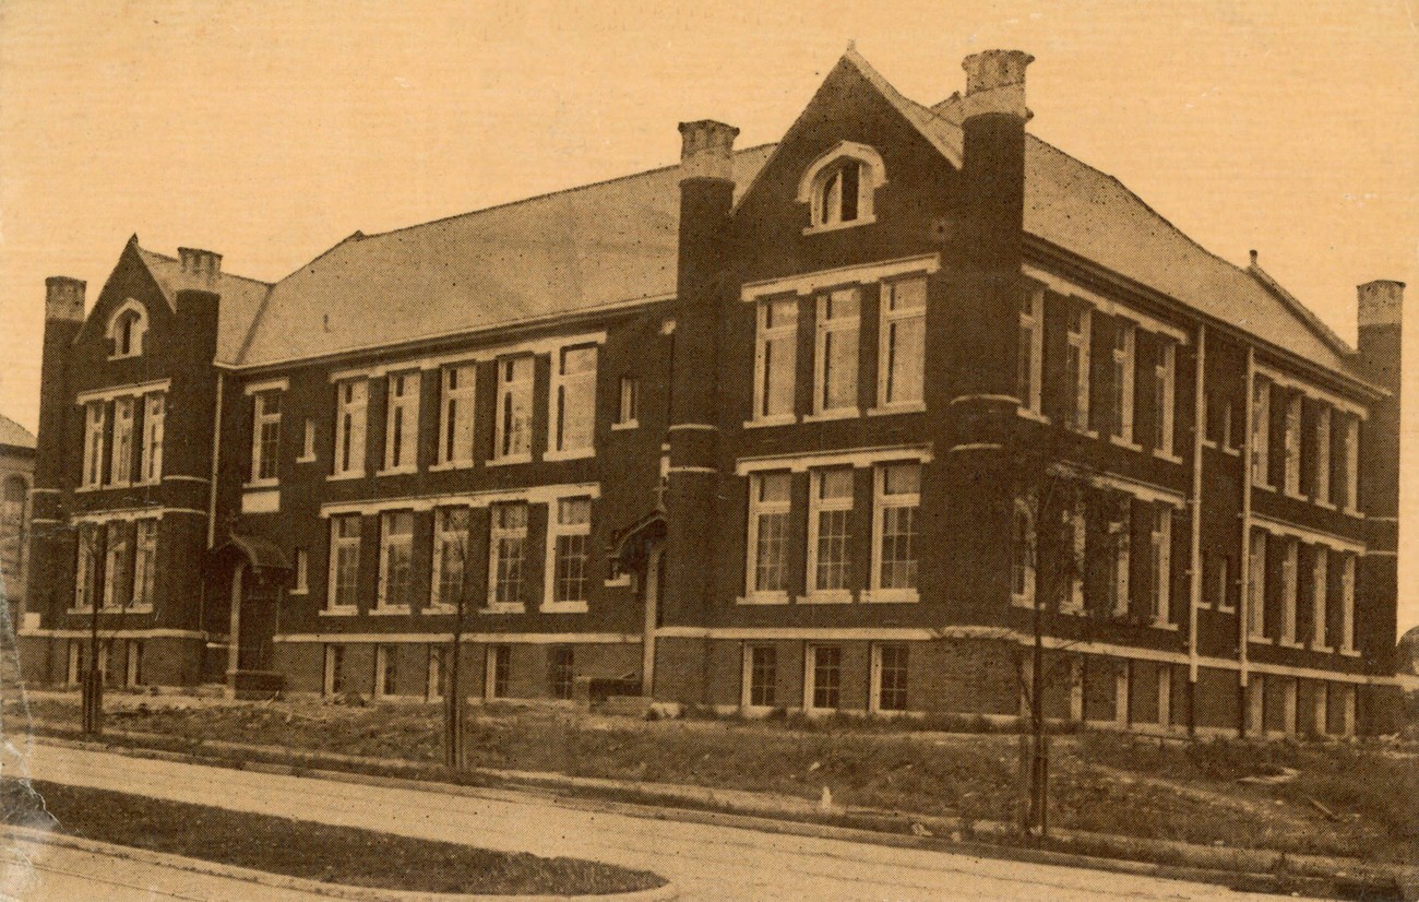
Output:
<instances>
[{"instance_id":1,"label":"dark tapering grass island in the road, bottom left corner","mask_svg":"<svg viewBox=\"0 0 1419 902\"><path fill-rule=\"evenodd\" d=\"M593 895L663 886L654 874L576 858L414 839L58 783L0 781L0 820L312 881L498 895Z\"/></svg>"}]
</instances>

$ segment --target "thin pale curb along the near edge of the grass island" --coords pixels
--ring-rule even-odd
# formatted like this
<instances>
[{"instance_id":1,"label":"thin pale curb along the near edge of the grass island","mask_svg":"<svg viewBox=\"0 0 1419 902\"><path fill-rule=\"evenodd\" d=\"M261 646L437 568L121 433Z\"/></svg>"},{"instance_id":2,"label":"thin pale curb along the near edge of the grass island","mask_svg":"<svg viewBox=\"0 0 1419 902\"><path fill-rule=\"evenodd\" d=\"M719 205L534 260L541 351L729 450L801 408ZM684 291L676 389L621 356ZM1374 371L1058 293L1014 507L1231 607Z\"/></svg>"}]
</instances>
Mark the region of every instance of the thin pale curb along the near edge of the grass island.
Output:
<instances>
[{"instance_id":1,"label":"thin pale curb along the near edge of the grass island","mask_svg":"<svg viewBox=\"0 0 1419 902\"><path fill-rule=\"evenodd\" d=\"M470 893L443 893L443 892L410 892L403 889L375 889L368 886L348 886L345 884L325 884L321 881L312 881L302 876L289 876L285 874L272 874L270 871L257 871L255 868L227 865L216 861L206 861L201 858L187 858L183 855L155 852L152 849L142 849L131 845L99 842L96 839L87 839L84 837L71 837L68 834L35 830L33 827L4 825L0 827L0 835L10 837L13 841L17 842L31 842L35 845L61 845L65 848L78 849L81 852L108 855L111 858L125 858L128 861L156 865L160 868L170 868L175 871L187 871L192 874L221 876L227 879L245 881L248 884L258 884L261 886L270 886L274 889L292 889L297 892L307 892L311 895L326 896L331 899L352 899L355 902L668 902L671 899L680 898L680 891L675 888L674 884L666 884L664 886L658 886L656 889L641 889L637 892L589 895L589 896L585 895L583 896L555 896L555 895L509 896L509 895L477 895L477 893L470 895Z\"/></svg>"}]
</instances>

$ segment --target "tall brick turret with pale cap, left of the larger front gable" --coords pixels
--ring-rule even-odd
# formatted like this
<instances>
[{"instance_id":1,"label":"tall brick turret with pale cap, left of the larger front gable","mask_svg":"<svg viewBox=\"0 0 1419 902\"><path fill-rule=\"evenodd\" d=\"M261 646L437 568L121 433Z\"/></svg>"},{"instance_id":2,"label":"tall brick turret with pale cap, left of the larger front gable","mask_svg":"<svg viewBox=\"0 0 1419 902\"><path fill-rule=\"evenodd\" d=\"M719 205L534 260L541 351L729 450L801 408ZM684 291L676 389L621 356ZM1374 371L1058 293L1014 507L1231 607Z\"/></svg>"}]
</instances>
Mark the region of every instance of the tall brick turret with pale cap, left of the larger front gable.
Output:
<instances>
[{"instance_id":1,"label":"tall brick turret with pale cap, left of the larger front gable","mask_svg":"<svg viewBox=\"0 0 1419 902\"><path fill-rule=\"evenodd\" d=\"M701 119L681 122L680 253L675 330L670 335L671 411L666 443L670 474L666 507L666 624L698 622L710 602L704 561L712 560L719 490L719 321L739 313L731 277L734 139L739 129ZM647 669L648 670L648 669ZM647 685L651 673L646 675Z\"/></svg>"}]
</instances>

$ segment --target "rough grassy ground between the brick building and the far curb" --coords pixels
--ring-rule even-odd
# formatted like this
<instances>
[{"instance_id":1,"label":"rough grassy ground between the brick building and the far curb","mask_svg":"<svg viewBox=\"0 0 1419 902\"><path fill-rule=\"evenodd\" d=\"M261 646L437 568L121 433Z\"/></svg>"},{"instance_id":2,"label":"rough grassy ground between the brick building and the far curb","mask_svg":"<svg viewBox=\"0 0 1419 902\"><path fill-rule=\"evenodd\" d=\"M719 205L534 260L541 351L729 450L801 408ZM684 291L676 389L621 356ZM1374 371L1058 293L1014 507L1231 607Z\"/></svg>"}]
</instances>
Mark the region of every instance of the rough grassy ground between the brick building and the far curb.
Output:
<instances>
[{"instance_id":1,"label":"rough grassy ground between the brick building and the far curb","mask_svg":"<svg viewBox=\"0 0 1419 902\"><path fill-rule=\"evenodd\" d=\"M114 703L115 730L160 733L175 750L227 740L437 766L440 709L319 702L159 707ZM77 723L77 699L31 703L41 722ZM569 709L470 709L471 764L715 790L748 790L911 815L1010 822L1017 737L932 732L986 726L968 717L744 720L708 712L640 722ZM169 740L160 740L169 741ZM1227 848L1419 861L1419 759L1376 744L1159 741L1110 732L1053 739L1056 827ZM209 746L210 749L210 746ZM1291 783L1239 783L1300 771ZM414 776L414 774L412 774ZM424 771L421 776L429 777ZM447 774L446 774L447 776ZM460 774L467 776L467 774ZM1324 817L1311 798L1338 815ZM683 804L683 803L681 803ZM870 813L863 813L870 814Z\"/></svg>"}]
</instances>

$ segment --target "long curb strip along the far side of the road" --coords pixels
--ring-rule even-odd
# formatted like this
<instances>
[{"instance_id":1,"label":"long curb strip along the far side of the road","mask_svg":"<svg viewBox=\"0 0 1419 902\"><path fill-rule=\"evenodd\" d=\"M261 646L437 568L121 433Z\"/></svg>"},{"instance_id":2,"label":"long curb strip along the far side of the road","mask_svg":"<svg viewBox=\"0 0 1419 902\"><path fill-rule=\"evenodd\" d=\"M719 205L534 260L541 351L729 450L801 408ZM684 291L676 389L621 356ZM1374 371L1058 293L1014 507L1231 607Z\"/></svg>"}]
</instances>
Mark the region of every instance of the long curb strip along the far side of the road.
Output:
<instances>
[{"instance_id":1,"label":"long curb strip along the far side of the road","mask_svg":"<svg viewBox=\"0 0 1419 902\"><path fill-rule=\"evenodd\" d=\"M148 734L129 734L128 739L138 740ZM159 734L152 734L159 737ZM1134 876L1155 876L1165 879L1181 879L1192 882L1205 882L1213 885L1223 885L1230 889L1249 891L1249 892L1281 892L1291 893L1296 891L1308 892L1311 895L1327 895L1327 896L1341 896L1341 898L1365 898L1365 899L1419 899L1419 872L1410 874L1406 869L1395 869L1369 865L1354 859L1332 859L1335 865L1327 866L1321 861L1307 861L1307 857L1288 857L1291 871L1286 874L1276 874L1269 871L1270 865L1274 865L1279 859L1287 858L1280 852L1271 852L1264 849L1226 849L1226 855L1237 857L1252 857L1254 859L1250 866L1246 862L1237 862L1237 868L1227 866L1208 866L1208 865L1185 865L1185 864L1161 864L1139 861L1135 858L1108 858L1101 855L1091 855L1086 852L1070 852L1057 849L1040 849L1029 848L1022 845L1009 845L990 841L972 841L972 839L952 839L951 834L959 831L959 824L954 818L944 817L927 817L927 815L907 815L902 813L891 811L874 811L874 810L858 810L858 811L837 811L839 817L847 814L856 814L861 820L878 820L881 822L895 821L898 824L924 824L937 831L945 831L946 835L927 835L920 837L910 832L893 832L887 830L873 830L864 827L847 827L839 824L820 824L815 821L793 820L792 817L773 817L772 804L765 804L758 807L758 811L752 814L736 813L736 811L722 811L712 808L692 808L692 807L675 807L674 801L670 803L651 803L651 801L619 801L597 798L595 795L575 794L575 791L623 791L631 795L650 795L656 797L660 788L678 788L681 793L675 794L675 801L680 803L698 803L707 805L722 805L727 808L734 808L734 803L728 797L735 793L718 794L708 787L704 787L704 794L700 798L694 793L687 793L684 790L690 787L680 787L678 784L637 784L629 781L616 781L609 778L595 778L595 777L572 777L566 774L541 773L541 771L505 771L494 768L475 768L470 773L481 774L491 780L502 781L505 784L512 784L517 788L499 788L495 786L467 786L446 783L438 778L417 778L417 777L392 777L382 774L369 774L359 771L346 770L331 770L329 763L339 761L343 764L366 767L385 767L397 768L406 773L417 773L419 770L426 770L424 766L414 761L400 761L400 760L386 760L386 759L360 759L358 756L346 756L339 753L326 753L325 763L326 767L321 767L321 753L295 753L301 760L308 761L308 764L281 764L272 761L260 760L243 760L231 761L220 757L219 754L203 754L200 750L193 751L170 751L165 749L143 749L139 746L123 746L123 744L109 744L109 743L94 743L85 740L70 740L55 736L34 736L34 741L47 743L61 747L96 750L96 751L112 751L118 754L126 754L129 757L149 757L155 760L175 761L175 763L193 763L206 764L214 767L227 767L233 770L250 770L255 773L270 773L281 776L297 776L309 777L316 780L326 780L333 783L356 783L365 786L385 786L393 788L409 788L421 791L437 791L447 795L463 795L474 798L525 798L528 794L538 795L552 804L558 804L569 808L580 808L589 811L607 811L616 814L626 814L633 817L643 817L648 820L660 821L681 821L692 824L710 824L719 827L738 827L744 830L755 830L761 832L772 832L780 835L799 835L810 837L819 839L840 839L847 842L866 842L881 847L893 848L920 848L920 849L934 849L942 852L954 852L972 855L979 858L995 858L1005 861L1020 861L1029 864L1046 864L1059 866L1076 866L1088 868L1094 871L1105 871L1112 874L1128 874ZM285 756L291 759L289 750L271 746L254 746L245 743L211 743L213 750L223 749L227 751L247 751L255 754L265 754L270 757ZM695 790L701 787L694 787ZM752 795L742 793L745 795ZM789 814L785 811L783 814ZM986 832L995 832L1003 835L1007 832L1007 825L1003 824L986 824L976 822L976 828L986 828ZM1151 841L1151 839L1128 839L1117 838L1108 834L1088 834L1083 831L1056 831L1056 835L1064 838L1066 841L1094 841L1094 842L1166 842L1166 847L1158 851L1175 852L1175 854L1191 854L1200 857L1218 855L1218 849L1210 847L1196 847L1192 844L1175 842L1175 841ZM599 896L606 898L606 896Z\"/></svg>"}]
</instances>

